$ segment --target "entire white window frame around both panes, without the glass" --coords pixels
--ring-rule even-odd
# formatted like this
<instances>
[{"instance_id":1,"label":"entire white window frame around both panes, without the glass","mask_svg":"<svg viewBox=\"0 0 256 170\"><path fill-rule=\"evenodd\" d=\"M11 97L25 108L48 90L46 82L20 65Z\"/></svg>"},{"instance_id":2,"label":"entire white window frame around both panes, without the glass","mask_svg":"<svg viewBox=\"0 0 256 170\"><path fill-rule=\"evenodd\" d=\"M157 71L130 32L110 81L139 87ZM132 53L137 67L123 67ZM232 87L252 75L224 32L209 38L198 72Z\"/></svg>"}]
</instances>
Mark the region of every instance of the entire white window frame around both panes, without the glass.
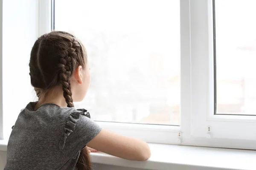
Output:
<instances>
[{"instance_id":1,"label":"entire white window frame around both panes, without the glass","mask_svg":"<svg viewBox=\"0 0 256 170\"><path fill-rule=\"evenodd\" d=\"M39 0L38 4L40 36L51 31L52 1ZM256 116L213 114L212 23L212 0L180 0L180 126L98 123L150 143L256 149ZM0 109L1 104L0 98ZM0 139L2 129L0 126Z\"/></svg>"}]
</instances>

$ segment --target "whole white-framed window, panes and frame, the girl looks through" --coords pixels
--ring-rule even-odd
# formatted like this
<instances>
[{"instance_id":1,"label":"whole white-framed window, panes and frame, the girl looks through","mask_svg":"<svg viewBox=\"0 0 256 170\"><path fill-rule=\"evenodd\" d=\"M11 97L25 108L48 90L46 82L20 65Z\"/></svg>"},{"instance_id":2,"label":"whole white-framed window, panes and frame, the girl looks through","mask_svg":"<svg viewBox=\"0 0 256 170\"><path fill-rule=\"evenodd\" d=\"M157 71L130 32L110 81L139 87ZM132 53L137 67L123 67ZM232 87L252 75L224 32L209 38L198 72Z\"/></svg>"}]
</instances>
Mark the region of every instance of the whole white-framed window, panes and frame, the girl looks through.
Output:
<instances>
[{"instance_id":1,"label":"whole white-framed window, panes and frame, the girl looks through","mask_svg":"<svg viewBox=\"0 0 256 170\"><path fill-rule=\"evenodd\" d=\"M29 15L38 36L68 31L87 48L92 83L76 106L102 127L152 143L256 150L253 0L38 5ZM4 108L11 99L3 95Z\"/></svg>"}]
</instances>

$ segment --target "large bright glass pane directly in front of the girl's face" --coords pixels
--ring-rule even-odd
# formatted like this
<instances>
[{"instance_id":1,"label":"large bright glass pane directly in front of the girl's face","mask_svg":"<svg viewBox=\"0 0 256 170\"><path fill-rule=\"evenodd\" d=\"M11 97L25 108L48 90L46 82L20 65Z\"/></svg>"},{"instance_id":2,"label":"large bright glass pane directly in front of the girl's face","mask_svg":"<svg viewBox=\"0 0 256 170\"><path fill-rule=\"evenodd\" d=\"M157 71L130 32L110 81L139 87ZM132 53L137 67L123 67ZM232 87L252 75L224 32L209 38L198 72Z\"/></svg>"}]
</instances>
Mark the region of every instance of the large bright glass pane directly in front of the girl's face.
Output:
<instances>
[{"instance_id":1,"label":"large bright glass pane directly in front of the girl's face","mask_svg":"<svg viewBox=\"0 0 256 170\"><path fill-rule=\"evenodd\" d=\"M88 52L84 101L98 121L179 125L179 0L55 0L55 30Z\"/></svg>"}]
</instances>

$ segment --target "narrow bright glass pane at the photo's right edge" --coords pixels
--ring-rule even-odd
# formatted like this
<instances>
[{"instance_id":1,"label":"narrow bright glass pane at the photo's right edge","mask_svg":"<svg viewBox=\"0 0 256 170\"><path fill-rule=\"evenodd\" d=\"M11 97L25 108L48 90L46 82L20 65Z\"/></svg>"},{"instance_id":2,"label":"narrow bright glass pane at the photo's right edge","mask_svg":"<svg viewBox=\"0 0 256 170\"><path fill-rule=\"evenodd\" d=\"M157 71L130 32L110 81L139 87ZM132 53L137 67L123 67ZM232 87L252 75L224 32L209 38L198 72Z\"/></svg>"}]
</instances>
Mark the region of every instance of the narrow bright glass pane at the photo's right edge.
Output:
<instances>
[{"instance_id":1,"label":"narrow bright glass pane at the photo's right edge","mask_svg":"<svg viewBox=\"0 0 256 170\"><path fill-rule=\"evenodd\" d=\"M255 7L255 0L215 0L218 114L256 114Z\"/></svg>"}]
</instances>

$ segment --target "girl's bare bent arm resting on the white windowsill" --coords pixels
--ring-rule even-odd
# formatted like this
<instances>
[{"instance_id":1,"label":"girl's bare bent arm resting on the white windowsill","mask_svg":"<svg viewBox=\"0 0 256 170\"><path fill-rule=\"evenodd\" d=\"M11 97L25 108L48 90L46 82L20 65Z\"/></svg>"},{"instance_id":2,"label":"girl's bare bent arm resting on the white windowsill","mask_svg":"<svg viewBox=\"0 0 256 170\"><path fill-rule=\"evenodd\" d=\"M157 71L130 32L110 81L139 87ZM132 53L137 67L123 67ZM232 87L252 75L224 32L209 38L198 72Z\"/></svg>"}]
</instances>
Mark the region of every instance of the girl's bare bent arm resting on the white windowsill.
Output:
<instances>
[{"instance_id":1,"label":"girl's bare bent arm resting on the white windowsill","mask_svg":"<svg viewBox=\"0 0 256 170\"><path fill-rule=\"evenodd\" d=\"M88 142L87 146L113 156L134 161L145 161L151 156L146 142L105 129L102 129L97 136Z\"/></svg>"}]
</instances>

